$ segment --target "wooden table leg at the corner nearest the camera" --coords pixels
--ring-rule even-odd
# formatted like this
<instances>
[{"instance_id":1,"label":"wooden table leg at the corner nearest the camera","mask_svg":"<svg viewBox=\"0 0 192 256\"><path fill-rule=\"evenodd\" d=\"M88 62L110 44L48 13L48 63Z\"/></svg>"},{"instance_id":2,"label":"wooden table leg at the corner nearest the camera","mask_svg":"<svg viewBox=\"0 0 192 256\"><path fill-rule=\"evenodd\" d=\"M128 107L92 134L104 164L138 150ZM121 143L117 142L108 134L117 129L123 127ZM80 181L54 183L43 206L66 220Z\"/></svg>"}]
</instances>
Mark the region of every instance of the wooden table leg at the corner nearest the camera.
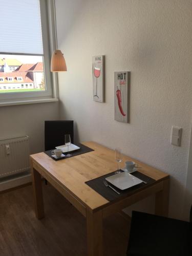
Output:
<instances>
[{"instance_id":1,"label":"wooden table leg at the corner nearest the camera","mask_svg":"<svg viewBox=\"0 0 192 256\"><path fill-rule=\"evenodd\" d=\"M87 210L88 256L102 256L102 210Z\"/></svg>"}]
</instances>

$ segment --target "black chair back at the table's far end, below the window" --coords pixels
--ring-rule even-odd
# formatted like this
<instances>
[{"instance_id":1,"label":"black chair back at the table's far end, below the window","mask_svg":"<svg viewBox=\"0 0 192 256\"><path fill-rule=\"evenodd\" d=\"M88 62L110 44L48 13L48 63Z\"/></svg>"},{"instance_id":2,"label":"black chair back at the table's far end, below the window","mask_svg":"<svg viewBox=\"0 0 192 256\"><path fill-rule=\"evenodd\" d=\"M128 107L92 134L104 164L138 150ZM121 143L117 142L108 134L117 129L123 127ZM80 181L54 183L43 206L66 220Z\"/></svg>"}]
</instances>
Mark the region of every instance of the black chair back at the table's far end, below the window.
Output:
<instances>
[{"instance_id":1,"label":"black chair back at the table's far end, below the window","mask_svg":"<svg viewBox=\"0 0 192 256\"><path fill-rule=\"evenodd\" d=\"M73 120L45 121L45 151L65 144L65 134L70 134L73 143Z\"/></svg>"}]
</instances>

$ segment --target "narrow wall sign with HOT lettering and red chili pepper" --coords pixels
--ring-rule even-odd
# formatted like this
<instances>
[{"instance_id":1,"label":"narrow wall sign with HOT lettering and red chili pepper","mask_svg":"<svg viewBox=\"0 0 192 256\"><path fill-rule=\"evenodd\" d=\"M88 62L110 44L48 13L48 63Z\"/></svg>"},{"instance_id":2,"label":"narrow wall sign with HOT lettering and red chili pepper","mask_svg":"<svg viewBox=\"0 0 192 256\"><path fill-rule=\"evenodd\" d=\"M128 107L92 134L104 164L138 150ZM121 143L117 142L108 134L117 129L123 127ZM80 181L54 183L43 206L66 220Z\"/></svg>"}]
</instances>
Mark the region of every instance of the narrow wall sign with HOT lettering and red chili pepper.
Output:
<instances>
[{"instance_id":1,"label":"narrow wall sign with HOT lettering and red chili pepper","mask_svg":"<svg viewBox=\"0 0 192 256\"><path fill-rule=\"evenodd\" d=\"M115 120L129 123L130 72L115 72Z\"/></svg>"}]
</instances>

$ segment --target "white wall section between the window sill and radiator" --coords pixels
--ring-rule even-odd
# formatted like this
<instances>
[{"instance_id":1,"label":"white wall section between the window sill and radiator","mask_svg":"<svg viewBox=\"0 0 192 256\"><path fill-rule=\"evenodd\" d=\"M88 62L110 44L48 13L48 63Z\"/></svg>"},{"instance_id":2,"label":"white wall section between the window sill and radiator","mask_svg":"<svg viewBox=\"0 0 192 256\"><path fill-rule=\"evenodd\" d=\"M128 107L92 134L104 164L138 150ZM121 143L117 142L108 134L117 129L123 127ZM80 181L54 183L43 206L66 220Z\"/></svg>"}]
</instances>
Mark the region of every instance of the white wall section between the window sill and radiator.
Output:
<instances>
[{"instance_id":1,"label":"white wall section between the window sill and radiator","mask_svg":"<svg viewBox=\"0 0 192 256\"><path fill-rule=\"evenodd\" d=\"M44 151L44 121L58 118L58 102L1 106L0 139L28 135L31 154Z\"/></svg>"}]
</instances>

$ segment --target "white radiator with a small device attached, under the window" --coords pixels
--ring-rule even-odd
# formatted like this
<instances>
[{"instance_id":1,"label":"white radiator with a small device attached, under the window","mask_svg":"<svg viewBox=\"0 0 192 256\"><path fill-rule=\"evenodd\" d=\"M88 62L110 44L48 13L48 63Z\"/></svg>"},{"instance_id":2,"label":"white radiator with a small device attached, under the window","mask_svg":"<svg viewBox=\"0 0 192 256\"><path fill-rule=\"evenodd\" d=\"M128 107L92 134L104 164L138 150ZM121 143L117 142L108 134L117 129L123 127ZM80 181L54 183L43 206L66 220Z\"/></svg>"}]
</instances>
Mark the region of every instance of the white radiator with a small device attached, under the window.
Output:
<instances>
[{"instance_id":1,"label":"white radiator with a small device attached, under the window","mask_svg":"<svg viewBox=\"0 0 192 256\"><path fill-rule=\"evenodd\" d=\"M29 137L0 140L0 179L29 169Z\"/></svg>"}]
</instances>

